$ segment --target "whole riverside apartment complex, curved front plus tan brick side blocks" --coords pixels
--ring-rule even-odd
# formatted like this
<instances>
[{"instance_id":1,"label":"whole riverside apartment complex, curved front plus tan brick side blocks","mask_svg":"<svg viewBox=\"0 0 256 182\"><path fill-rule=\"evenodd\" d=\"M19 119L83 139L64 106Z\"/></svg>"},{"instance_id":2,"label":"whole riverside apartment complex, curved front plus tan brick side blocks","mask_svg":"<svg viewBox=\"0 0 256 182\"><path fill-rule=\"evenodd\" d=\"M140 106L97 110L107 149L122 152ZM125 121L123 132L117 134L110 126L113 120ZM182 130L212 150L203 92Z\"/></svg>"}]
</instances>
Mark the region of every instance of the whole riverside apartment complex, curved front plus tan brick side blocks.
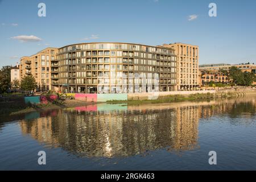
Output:
<instances>
[{"instance_id":1,"label":"whole riverside apartment complex, curved front plus tan brick side blocks","mask_svg":"<svg viewBox=\"0 0 256 182\"><path fill-rule=\"evenodd\" d=\"M189 59L177 61L179 51L175 48L179 47L173 45L81 43L46 48L20 59L20 78L33 75L38 90L53 92L138 93L195 89L199 84L198 47L189 47ZM184 64L184 71L179 71L179 64Z\"/></svg>"}]
</instances>

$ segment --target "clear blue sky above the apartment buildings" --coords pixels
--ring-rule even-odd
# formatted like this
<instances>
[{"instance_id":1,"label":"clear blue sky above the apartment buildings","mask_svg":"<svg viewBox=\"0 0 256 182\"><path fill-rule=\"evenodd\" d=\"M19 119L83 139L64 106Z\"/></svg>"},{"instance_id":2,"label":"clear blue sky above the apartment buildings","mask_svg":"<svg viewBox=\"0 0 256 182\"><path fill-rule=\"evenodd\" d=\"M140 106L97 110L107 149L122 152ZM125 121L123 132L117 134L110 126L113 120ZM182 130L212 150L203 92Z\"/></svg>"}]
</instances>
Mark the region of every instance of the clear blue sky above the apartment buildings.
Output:
<instances>
[{"instance_id":1,"label":"clear blue sky above the apartment buildings","mask_svg":"<svg viewBox=\"0 0 256 182\"><path fill-rule=\"evenodd\" d=\"M38 16L40 2L46 17ZM210 2L217 17L208 15ZM256 64L255 19L254 0L0 0L0 67L46 47L82 42L183 42L200 47L200 64Z\"/></svg>"}]
</instances>

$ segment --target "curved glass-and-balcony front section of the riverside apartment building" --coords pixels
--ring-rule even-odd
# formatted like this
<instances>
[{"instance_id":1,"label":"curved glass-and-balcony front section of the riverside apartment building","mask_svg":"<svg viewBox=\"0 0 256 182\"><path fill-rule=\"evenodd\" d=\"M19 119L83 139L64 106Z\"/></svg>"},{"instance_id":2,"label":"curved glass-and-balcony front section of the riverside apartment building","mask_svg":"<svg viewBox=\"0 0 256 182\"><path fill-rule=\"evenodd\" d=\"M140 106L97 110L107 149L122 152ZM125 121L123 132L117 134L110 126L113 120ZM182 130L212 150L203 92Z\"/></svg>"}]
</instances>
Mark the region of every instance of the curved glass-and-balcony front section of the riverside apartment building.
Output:
<instances>
[{"instance_id":1,"label":"curved glass-and-balcony front section of the riverside apartment building","mask_svg":"<svg viewBox=\"0 0 256 182\"><path fill-rule=\"evenodd\" d=\"M61 92L137 93L176 90L174 49L130 43L59 48L52 86ZM53 68L52 68L53 69Z\"/></svg>"}]
</instances>

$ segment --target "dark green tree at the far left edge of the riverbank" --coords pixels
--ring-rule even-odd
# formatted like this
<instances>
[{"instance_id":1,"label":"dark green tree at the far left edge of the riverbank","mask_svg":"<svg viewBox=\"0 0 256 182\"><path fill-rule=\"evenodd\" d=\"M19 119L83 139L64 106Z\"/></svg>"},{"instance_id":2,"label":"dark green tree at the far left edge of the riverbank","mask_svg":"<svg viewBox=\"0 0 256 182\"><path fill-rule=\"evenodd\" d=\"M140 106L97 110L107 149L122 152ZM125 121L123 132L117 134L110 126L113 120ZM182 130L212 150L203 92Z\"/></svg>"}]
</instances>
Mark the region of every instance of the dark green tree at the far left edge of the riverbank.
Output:
<instances>
[{"instance_id":1,"label":"dark green tree at the far left edge of the riverbank","mask_svg":"<svg viewBox=\"0 0 256 182\"><path fill-rule=\"evenodd\" d=\"M0 70L0 93L7 92L11 86L11 66L2 67Z\"/></svg>"}]
</instances>

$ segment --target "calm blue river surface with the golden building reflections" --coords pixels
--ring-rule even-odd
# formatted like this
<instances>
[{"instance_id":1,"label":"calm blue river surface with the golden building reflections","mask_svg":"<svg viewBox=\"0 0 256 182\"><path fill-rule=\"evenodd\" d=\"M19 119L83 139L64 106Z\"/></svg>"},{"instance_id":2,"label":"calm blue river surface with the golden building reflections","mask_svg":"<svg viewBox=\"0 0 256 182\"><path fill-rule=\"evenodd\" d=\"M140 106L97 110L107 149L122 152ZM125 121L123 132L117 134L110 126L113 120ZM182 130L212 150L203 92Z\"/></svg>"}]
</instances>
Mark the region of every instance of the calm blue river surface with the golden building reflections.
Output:
<instances>
[{"instance_id":1,"label":"calm blue river surface with the golden building reflections","mask_svg":"<svg viewBox=\"0 0 256 182\"><path fill-rule=\"evenodd\" d=\"M256 169L256 96L0 118L0 169ZM46 165L38 152L46 152ZM217 165L209 165L209 151Z\"/></svg>"}]
</instances>

